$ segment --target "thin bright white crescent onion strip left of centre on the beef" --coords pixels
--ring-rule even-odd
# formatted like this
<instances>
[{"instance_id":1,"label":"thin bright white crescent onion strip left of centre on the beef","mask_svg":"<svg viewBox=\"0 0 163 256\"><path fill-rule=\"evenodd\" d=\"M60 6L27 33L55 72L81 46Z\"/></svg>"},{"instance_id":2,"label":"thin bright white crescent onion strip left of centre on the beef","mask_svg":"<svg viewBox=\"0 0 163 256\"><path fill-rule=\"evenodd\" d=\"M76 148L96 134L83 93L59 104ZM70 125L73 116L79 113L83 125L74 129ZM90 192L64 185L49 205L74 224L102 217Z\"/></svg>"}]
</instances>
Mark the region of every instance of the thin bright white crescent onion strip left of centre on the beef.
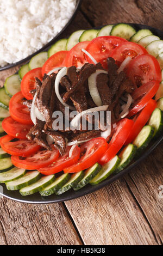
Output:
<instances>
[{"instance_id":1,"label":"thin bright white crescent onion strip left of centre on the beef","mask_svg":"<svg viewBox=\"0 0 163 256\"><path fill-rule=\"evenodd\" d=\"M62 68L62 69L58 72L58 74L57 74L57 76L56 76L56 78L55 78L55 93L56 93L56 95L57 95L59 101L62 103L62 105L64 105L65 107L69 107L71 110L74 110L75 108L72 107L72 106L70 106L70 105L68 105L68 104L66 104L66 103L62 100L62 98L61 98L61 96L60 96L60 94L59 94L59 83L60 83L60 80L61 80L61 78L64 77L66 74L67 74L67 68L66 68L66 67Z\"/></svg>"}]
</instances>

